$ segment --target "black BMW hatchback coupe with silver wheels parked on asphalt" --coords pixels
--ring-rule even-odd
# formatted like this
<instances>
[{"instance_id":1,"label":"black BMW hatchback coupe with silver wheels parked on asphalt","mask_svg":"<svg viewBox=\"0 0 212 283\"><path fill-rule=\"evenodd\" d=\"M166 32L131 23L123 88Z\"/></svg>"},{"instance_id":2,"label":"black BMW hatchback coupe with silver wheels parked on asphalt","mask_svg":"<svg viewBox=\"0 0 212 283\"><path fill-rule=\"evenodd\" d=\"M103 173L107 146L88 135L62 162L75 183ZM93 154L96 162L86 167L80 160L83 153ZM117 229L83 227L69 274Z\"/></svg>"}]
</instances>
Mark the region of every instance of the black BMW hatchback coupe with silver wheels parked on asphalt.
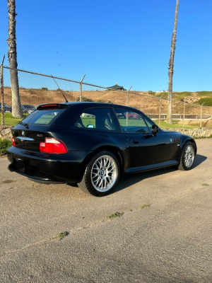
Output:
<instances>
[{"instance_id":1,"label":"black BMW hatchback coupe with silver wheels parked on asphalt","mask_svg":"<svg viewBox=\"0 0 212 283\"><path fill-rule=\"evenodd\" d=\"M95 196L107 195L121 174L167 166L190 170L196 156L192 137L163 131L139 110L107 103L39 105L12 134L10 171L40 183L78 183Z\"/></svg>"}]
</instances>

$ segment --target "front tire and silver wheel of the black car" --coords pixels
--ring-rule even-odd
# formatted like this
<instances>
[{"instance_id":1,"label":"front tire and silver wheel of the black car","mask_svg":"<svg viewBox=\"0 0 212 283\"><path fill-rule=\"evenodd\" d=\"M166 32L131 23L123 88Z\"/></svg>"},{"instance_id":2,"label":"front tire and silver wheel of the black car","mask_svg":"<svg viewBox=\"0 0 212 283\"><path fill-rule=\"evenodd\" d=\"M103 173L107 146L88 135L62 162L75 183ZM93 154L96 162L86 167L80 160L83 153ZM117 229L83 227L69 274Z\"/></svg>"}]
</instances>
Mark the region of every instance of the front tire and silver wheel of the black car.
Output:
<instances>
[{"instance_id":1,"label":"front tire and silver wheel of the black car","mask_svg":"<svg viewBox=\"0 0 212 283\"><path fill-rule=\"evenodd\" d=\"M188 171L191 170L194 166L195 160L195 149L194 144L191 141L188 141L184 148L182 149L182 154L180 156L180 162L177 168L179 170Z\"/></svg>"}]
</instances>

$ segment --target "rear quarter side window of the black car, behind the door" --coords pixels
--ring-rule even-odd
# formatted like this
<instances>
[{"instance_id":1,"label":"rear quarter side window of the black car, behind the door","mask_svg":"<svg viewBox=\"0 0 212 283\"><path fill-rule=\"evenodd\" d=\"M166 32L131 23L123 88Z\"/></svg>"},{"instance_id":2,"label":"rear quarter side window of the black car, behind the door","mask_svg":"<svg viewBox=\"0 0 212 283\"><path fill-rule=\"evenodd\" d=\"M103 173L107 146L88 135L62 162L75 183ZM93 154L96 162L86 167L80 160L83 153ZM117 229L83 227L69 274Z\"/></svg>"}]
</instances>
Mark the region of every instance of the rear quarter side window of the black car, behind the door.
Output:
<instances>
[{"instance_id":1,"label":"rear quarter side window of the black car, behind the door","mask_svg":"<svg viewBox=\"0 0 212 283\"><path fill-rule=\"evenodd\" d=\"M110 108L88 108L83 110L74 124L75 128L102 129L104 131L117 131L116 121Z\"/></svg>"}]
</instances>

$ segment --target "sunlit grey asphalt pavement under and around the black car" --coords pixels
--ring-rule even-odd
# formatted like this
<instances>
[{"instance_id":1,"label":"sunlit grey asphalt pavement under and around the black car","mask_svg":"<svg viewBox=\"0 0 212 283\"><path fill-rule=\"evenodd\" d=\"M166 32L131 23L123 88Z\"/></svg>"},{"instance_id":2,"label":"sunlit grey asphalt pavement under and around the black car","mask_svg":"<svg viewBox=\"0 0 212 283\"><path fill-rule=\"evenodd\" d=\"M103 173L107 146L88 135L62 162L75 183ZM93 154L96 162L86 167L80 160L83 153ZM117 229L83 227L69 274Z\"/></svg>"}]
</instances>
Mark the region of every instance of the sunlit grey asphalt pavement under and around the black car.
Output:
<instances>
[{"instance_id":1,"label":"sunlit grey asphalt pavement under and around the black car","mask_svg":"<svg viewBox=\"0 0 212 283\"><path fill-rule=\"evenodd\" d=\"M211 283L212 139L196 144L191 171L128 175L100 198L1 158L0 282Z\"/></svg>"}]
</instances>

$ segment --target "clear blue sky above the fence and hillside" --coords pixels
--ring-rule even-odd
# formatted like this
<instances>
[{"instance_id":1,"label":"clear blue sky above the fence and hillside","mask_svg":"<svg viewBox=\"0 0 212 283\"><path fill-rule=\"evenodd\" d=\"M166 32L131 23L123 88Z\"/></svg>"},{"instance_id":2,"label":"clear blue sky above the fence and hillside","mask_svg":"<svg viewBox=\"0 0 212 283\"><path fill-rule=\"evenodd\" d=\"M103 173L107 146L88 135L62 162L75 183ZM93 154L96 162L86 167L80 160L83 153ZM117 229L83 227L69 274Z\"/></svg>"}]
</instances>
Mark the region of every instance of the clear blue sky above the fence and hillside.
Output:
<instances>
[{"instance_id":1,"label":"clear blue sky above the fence and hillside","mask_svg":"<svg viewBox=\"0 0 212 283\"><path fill-rule=\"evenodd\" d=\"M100 86L167 89L176 0L16 0L18 68ZM7 56L1 0L0 60ZM174 91L212 90L212 1L179 0ZM5 64L8 65L7 59Z\"/></svg>"}]
</instances>

